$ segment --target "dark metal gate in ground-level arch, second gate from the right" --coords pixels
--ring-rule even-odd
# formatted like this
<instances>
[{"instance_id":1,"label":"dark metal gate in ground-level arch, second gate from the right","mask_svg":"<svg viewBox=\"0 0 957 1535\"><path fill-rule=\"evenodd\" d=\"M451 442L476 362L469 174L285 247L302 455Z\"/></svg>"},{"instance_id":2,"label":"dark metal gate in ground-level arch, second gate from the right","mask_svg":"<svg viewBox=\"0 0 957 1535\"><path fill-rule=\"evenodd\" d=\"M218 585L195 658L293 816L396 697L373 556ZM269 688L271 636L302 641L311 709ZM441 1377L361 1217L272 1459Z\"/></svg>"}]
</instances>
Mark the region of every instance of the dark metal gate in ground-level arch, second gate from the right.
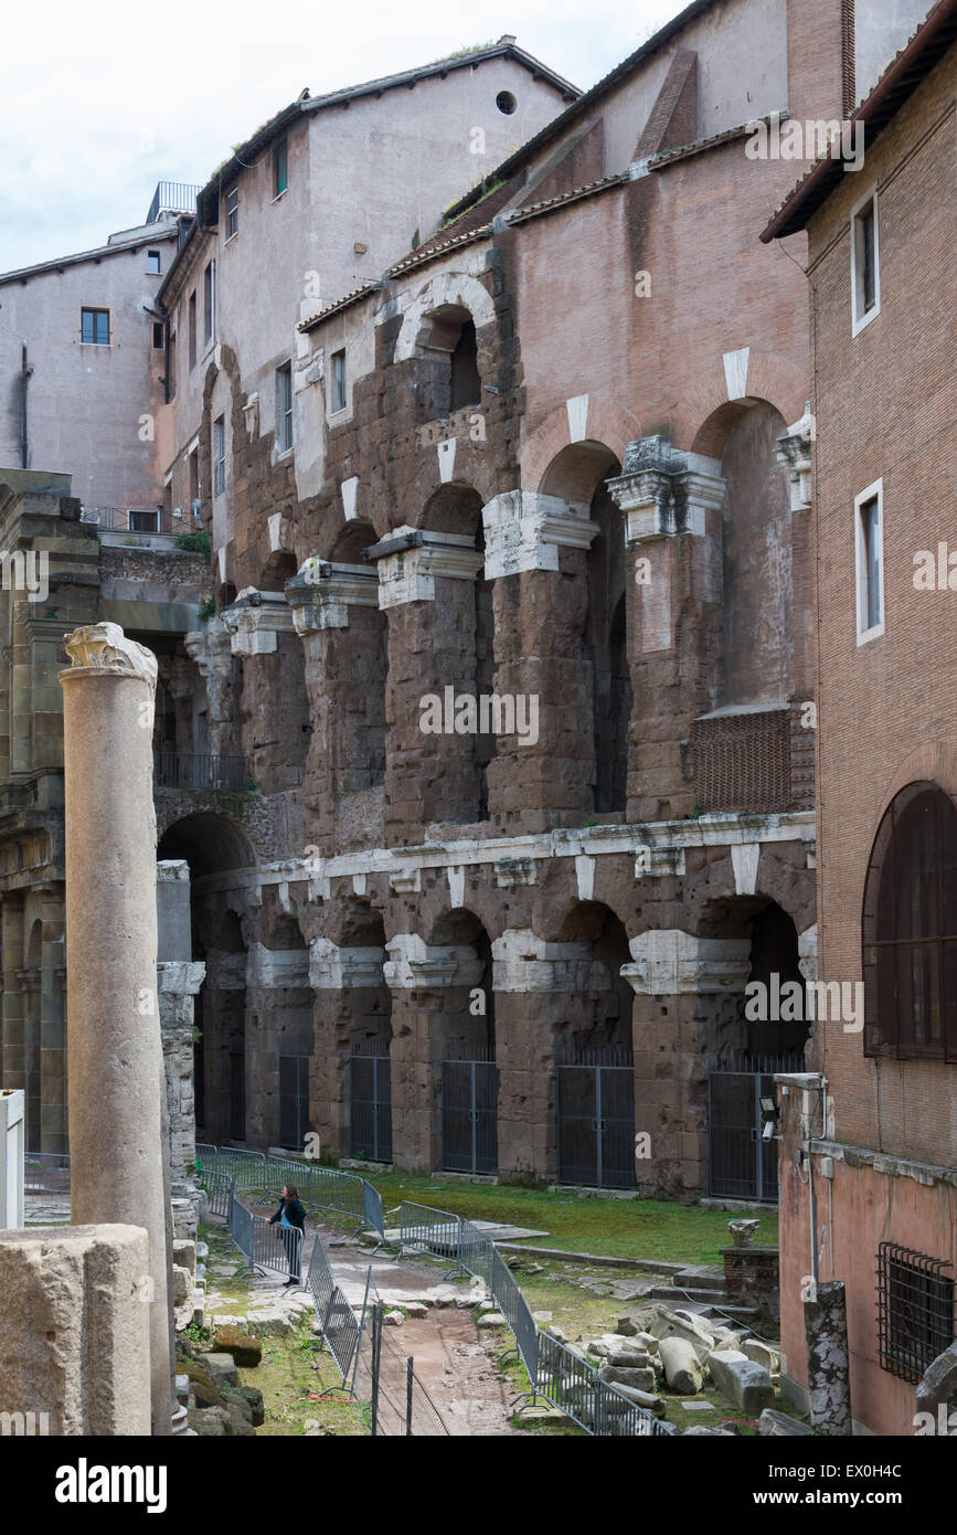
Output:
<instances>
[{"instance_id":1,"label":"dark metal gate in ground-level arch, second gate from the right","mask_svg":"<svg viewBox=\"0 0 957 1535\"><path fill-rule=\"evenodd\" d=\"M635 1188L635 1068L613 1050L558 1061L558 1180Z\"/></svg>"}]
</instances>

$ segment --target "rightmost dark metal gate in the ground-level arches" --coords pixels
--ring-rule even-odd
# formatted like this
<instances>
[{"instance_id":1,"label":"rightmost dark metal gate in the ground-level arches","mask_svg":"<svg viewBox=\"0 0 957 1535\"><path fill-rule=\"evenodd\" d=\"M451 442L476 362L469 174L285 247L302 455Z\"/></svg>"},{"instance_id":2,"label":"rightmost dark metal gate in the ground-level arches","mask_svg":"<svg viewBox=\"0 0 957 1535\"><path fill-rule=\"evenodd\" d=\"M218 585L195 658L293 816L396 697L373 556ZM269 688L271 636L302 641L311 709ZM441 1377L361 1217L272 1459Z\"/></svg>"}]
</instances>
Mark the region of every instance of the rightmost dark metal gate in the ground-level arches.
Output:
<instances>
[{"instance_id":1,"label":"rightmost dark metal gate in the ground-level arches","mask_svg":"<svg viewBox=\"0 0 957 1535\"><path fill-rule=\"evenodd\" d=\"M718 1199L778 1203L778 1142L762 1139L761 1099L774 1098L774 1071L804 1067L801 1058L762 1065L709 1076L709 1193Z\"/></svg>"}]
</instances>

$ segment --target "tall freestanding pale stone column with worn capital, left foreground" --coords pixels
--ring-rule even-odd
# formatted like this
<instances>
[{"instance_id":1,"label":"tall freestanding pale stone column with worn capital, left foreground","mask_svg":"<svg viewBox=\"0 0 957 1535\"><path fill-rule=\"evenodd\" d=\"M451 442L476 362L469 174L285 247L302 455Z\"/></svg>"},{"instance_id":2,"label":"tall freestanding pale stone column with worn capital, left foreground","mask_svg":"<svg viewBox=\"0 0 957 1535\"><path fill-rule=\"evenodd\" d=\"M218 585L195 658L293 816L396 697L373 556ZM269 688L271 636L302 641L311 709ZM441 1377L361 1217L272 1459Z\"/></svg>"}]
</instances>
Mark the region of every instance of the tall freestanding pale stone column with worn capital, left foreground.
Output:
<instances>
[{"instance_id":1,"label":"tall freestanding pale stone column with worn capital, left foreground","mask_svg":"<svg viewBox=\"0 0 957 1535\"><path fill-rule=\"evenodd\" d=\"M172 1228L156 1005L156 660L113 623L66 637L69 1136L77 1225L149 1237L153 1434L170 1434Z\"/></svg>"}]
</instances>

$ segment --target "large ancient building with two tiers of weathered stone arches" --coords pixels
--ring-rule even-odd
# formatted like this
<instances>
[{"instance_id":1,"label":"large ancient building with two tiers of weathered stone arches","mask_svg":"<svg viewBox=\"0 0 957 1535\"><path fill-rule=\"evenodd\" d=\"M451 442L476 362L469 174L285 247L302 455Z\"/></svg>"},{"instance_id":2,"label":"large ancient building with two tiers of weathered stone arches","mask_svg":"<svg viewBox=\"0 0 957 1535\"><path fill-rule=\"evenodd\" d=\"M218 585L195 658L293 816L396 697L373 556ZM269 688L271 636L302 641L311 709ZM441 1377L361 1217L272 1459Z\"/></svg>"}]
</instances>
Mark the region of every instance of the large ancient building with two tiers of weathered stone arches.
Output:
<instances>
[{"instance_id":1,"label":"large ancient building with two tiers of weathered stone arches","mask_svg":"<svg viewBox=\"0 0 957 1535\"><path fill-rule=\"evenodd\" d=\"M751 150L871 68L848 5L811 9L698 0L581 98L509 40L353 94L402 146L428 89L463 161L472 129L506 158L446 146L416 221L380 175L402 239L356 267L339 221L319 296L299 233L244 235L345 101L202 190L158 439L212 569L101 534L69 626L160 660L204 1139L774 1197L755 1098L807 1025L751 1021L745 985L816 964L811 422L805 276L758 239L796 167Z\"/></svg>"}]
</instances>

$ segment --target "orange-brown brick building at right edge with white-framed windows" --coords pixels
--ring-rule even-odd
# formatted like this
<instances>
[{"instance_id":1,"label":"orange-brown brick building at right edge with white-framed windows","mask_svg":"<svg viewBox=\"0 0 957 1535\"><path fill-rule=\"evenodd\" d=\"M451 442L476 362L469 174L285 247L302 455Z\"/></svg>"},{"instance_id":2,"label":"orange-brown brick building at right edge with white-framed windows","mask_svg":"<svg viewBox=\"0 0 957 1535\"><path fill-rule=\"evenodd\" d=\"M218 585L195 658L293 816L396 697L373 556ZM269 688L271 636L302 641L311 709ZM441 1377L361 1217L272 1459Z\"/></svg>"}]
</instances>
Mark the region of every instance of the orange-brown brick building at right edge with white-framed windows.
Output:
<instances>
[{"instance_id":1,"label":"orange-brown brick building at right edge with white-framed windows","mask_svg":"<svg viewBox=\"0 0 957 1535\"><path fill-rule=\"evenodd\" d=\"M916 1398L957 1340L955 107L945 0L856 114L862 172L819 163L765 232L810 241L817 900L844 989L782 1084L784 1374L807 1405L805 1302L842 1280L851 1412L877 1434L948 1432L957 1406L952 1369Z\"/></svg>"}]
</instances>

